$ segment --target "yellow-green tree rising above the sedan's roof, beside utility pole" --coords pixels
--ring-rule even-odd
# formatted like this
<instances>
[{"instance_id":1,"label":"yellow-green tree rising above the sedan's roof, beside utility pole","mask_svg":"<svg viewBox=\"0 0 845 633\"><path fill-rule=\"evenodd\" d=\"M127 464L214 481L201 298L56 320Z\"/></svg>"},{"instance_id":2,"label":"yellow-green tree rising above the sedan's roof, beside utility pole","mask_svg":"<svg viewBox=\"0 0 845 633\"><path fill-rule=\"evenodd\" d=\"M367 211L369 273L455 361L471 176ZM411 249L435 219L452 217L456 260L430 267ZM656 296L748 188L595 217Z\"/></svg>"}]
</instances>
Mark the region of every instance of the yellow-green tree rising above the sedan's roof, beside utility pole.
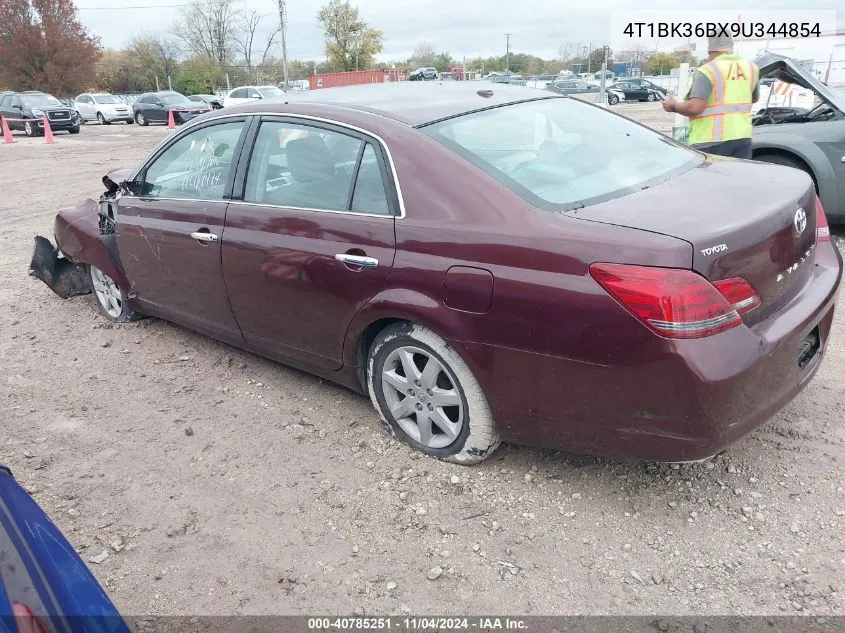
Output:
<instances>
[{"instance_id":1,"label":"yellow-green tree rising above the sedan's roof, beside utility pole","mask_svg":"<svg viewBox=\"0 0 845 633\"><path fill-rule=\"evenodd\" d=\"M326 38L326 58L334 71L364 70L382 48L382 32L361 19L349 0L331 0L317 14Z\"/></svg>"}]
</instances>

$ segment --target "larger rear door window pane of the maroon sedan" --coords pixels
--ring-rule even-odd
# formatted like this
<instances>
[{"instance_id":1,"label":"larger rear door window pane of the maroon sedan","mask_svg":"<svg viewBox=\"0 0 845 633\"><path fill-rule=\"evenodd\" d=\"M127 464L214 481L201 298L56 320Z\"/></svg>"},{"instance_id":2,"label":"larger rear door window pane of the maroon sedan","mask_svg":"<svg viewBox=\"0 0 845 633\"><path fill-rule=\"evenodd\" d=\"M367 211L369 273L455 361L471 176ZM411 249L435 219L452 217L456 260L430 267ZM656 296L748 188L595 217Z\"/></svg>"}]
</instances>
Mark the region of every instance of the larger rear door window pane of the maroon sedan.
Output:
<instances>
[{"instance_id":1,"label":"larger rear door window pane of the maroon sedan","mask_svg":"<svg viewBox=\"0 0 845 633\"><path fill-rule=\"evenodd\" d=\"M362 143L330 130L265 121L249 161L244 201L346 211Z\"/></svg>"}]
</instances>

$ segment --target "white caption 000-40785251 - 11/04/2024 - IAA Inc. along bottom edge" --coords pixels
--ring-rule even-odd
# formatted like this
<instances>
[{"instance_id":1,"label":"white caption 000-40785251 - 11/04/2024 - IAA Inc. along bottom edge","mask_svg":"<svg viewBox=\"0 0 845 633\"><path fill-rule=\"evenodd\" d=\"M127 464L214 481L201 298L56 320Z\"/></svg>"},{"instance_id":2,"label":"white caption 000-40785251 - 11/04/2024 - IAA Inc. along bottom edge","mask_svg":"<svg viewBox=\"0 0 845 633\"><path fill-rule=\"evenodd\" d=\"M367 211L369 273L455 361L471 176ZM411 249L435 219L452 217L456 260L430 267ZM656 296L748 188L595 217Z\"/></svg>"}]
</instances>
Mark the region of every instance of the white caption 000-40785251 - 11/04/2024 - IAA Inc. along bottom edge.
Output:
<instances>
[{"instance_id":1,"label":"white caption 000-40785251 - 11/04/2024 - IAA Inc. along bottom edge","mask_svg":"<svg viewBox=\"0 0 845 633\"><path fill-rule=\"evenodd\" d=\"M309 618L308 630L317 631L525 631L525 620L509 617L373 617Z\"/></svg>"}]
</instances>

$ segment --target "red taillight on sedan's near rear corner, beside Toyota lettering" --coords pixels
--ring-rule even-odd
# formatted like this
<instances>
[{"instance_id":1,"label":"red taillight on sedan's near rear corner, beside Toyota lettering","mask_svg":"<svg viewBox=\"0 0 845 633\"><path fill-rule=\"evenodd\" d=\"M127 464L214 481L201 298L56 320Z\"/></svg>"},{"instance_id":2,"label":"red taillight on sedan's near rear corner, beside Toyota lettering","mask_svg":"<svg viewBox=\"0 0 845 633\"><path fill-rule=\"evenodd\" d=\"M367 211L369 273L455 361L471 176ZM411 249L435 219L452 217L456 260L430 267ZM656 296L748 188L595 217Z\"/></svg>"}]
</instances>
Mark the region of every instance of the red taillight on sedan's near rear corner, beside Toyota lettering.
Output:
<instances>
[{"instance_id":1,"label":"red taillight on sedan's near rear corner, beside Toyota lettering","mask_svg":"<svg viewBox=\"0 0 845 633\"><path fill-rule=\"evenodd\" d=\"M744 279L723 280L717 288L691 270L628 264L593 264L590 275L628 312L667 338L724 332L742 324L734 304L744 312L760 305Z\"/></svg>"}]
</instances>

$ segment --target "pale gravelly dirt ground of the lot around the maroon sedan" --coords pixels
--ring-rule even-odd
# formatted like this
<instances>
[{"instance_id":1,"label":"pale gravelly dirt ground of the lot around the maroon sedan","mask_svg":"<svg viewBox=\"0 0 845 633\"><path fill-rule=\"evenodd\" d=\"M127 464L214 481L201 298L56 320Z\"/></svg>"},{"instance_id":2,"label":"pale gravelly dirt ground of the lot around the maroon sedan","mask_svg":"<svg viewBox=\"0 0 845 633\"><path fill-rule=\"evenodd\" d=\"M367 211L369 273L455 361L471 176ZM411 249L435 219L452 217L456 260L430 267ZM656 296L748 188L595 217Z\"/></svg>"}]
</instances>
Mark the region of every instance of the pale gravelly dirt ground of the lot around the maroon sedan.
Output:
<instances>
[{"instance_id":1,"label":"pale gravelly dirt ground of the lot around the maroon sedan","mask_svg":"<svg viewBox=\"0 0 845 633\"><path fill-rule=\"evenodd\" d=\"M125 614L845 613L845 299L815 381L708 463L418 458L362 397L27 277L55 212L166 133L0 145L0 462L109 552Z\"/></svg>"}]
</instances>

